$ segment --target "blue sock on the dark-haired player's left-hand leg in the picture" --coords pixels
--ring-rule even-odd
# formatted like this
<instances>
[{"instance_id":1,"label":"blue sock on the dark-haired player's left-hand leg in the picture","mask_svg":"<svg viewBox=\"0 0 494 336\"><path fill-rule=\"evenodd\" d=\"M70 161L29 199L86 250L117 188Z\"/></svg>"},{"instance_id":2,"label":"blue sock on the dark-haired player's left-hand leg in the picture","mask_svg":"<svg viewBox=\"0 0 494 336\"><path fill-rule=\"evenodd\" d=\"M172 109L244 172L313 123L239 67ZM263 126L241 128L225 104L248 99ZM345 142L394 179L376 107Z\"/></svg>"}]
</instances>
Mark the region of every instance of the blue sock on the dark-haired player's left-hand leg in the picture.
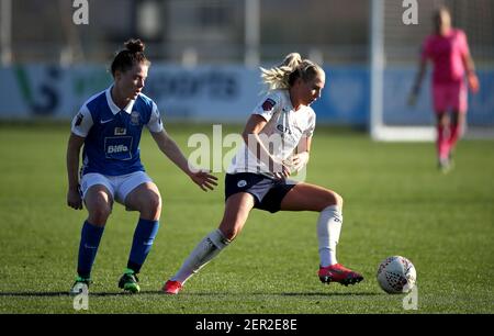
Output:
<instances>
[{"instance_id":1,"label":"blue sock on the dark-haired player's left-hand leg in the picture","mask_svg":"<svg viewBox=\"0 0 494 336\"><path fill-rule=\"evenodd\" d=\"M88 221L82 225L77 265L77 273L81 278L89 279L91 276L92 264L94 262L103 231L104 226L94 226Z\"/></svg>"}]
</instances>

